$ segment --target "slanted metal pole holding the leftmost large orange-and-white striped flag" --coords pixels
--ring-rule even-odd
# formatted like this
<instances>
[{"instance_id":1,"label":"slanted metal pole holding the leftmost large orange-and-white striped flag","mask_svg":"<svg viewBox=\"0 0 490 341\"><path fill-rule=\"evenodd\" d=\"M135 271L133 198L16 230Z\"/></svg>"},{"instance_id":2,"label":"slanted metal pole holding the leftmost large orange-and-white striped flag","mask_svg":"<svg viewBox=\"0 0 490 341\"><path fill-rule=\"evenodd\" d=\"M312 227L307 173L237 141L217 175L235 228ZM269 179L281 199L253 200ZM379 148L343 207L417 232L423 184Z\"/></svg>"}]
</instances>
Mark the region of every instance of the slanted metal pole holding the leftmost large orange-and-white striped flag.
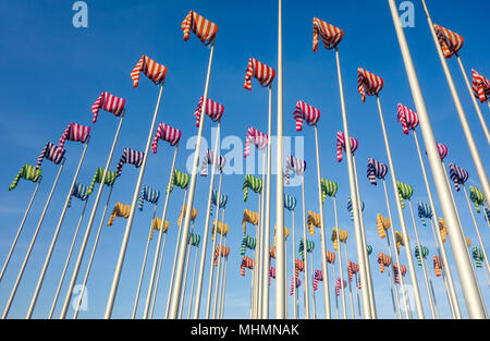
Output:
<instances>
[{"instance_id":1,"label":"slanted metal pole holding the leftmost large orange-and-white striped flag","mask_svg":"<svg viewBox=\"0 0 490 341\"><path fill-rule=\"evenodd\" d=\"M146 141L145 156L143 157L143 165L139 168L139 175L136 182L136 187L133 193L133 200L131 203L130 217L127 218L126 229L124 231L123 241L121 244L121 249L119 253L118 265L115 266L114 277L112 279L111 291L106 306L106 314L103 318L109 319L112 315L112 308L114 306L115 294L118 293L119 281L121 279L121 271L124 265L124 258L126 256L127 243L130 241L131 227L133 226L134 215L136 212L136 203L139 196L139 190L142 188L143 176L145 175L146 161L148 160L148 151L151 144L151 137L154 135L155 123L157 122L158 109L160 107L161 94L163 92L164 81L160 85L160 93L158 94L157 107L155 108L154 118L151 120L151 125L148 133L148 139Z\"/></svg>"}]
</instances>

